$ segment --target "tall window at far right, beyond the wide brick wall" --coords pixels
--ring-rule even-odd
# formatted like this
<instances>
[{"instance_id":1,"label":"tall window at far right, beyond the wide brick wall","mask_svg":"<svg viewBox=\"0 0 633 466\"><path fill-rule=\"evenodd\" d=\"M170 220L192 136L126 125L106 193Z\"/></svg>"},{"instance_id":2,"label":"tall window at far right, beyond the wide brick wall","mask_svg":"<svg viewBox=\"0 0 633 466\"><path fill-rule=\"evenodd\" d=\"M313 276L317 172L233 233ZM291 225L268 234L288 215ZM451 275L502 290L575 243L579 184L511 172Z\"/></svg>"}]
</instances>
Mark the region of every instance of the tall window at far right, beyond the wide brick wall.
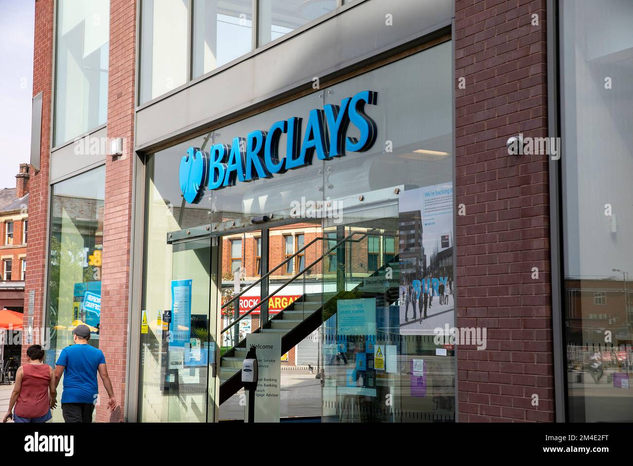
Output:
<instances>
[{"instance_id":1,"label":"tall window at far right, beyond the wide brick wall","mask_svg":"<svg viewBox=\"0 0 633 466\"><path fill-rule=\"evenodd\" d=\"M561 2L563 309L570 422L633 419L633 3Z\"/></svg>"}]
</instances>

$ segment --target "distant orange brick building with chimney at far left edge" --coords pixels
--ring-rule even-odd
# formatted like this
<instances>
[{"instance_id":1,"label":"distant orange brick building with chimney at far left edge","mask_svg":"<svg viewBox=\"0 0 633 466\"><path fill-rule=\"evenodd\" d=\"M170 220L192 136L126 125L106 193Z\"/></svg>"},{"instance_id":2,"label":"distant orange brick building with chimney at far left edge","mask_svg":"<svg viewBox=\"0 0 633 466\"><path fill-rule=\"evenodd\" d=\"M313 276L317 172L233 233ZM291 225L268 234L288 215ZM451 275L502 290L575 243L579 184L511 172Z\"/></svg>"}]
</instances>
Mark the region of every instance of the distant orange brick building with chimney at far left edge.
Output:
<instances>
[{"instance_id":1,"label":"distant orange brick building with chimney at far left edge","mask_svg":"<svg viewBox=\"0 0 633 466\"><path fill-rule=\"evenodd\" d=\"M20 164L16 187L0 190L0 309L24 307L29 170L28 164Z\"/></svg>"}]
</instances>

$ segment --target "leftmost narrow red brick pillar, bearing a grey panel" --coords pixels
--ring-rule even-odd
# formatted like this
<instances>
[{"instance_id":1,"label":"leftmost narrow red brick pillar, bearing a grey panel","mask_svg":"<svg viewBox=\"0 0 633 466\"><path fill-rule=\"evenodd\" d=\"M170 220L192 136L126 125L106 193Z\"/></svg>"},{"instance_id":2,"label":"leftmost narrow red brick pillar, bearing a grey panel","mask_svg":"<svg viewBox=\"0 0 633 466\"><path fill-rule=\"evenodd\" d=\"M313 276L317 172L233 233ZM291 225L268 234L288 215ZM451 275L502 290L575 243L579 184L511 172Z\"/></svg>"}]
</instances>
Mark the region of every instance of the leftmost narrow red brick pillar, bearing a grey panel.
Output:
<instances>
[{"instance_id":1,"label":"leftmost narrow red brick pillar, bearing a grey panel","mask_svg":"<svg viewBox=\"0 0 633 466\"><path fill-rule=\"evenodd\" d=\"M42 138L40 171L32 170L28 195L27 280L24 287L24 328L28 326L28 295L35 292L33 314L35 335L41 335L46 318L44 313L44 272L47 266L47 230L49 198L49 165L51 157L51 90L53 89L53 0L35 2L35 37L33 54L33 95L42 94ZM22 241L20 239L20 241ZM23 332L26 335L26 332ZM41 344L39 339L34 343ZM26 339L22 359L27 357Z\"/></svg>"}]
</instances>

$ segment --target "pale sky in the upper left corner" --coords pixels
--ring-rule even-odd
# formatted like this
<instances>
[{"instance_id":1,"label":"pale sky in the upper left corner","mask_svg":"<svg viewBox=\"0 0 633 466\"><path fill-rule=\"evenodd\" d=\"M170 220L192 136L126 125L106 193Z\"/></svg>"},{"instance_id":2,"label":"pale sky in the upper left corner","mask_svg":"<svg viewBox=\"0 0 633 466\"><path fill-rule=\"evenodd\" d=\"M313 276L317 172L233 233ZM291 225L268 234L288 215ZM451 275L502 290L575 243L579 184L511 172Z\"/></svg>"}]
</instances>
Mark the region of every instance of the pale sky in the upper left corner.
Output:
<instances>
[{"instance_id":1,"label":"pale sky in the upper left corner","mask_svg":"<svg viewBox=\"0 0 633 466\"><path fill-rule=\"evenodd\" d=\"M35 0L0 0L0 188L30 160Z\"/></svg>"}]
</instances>

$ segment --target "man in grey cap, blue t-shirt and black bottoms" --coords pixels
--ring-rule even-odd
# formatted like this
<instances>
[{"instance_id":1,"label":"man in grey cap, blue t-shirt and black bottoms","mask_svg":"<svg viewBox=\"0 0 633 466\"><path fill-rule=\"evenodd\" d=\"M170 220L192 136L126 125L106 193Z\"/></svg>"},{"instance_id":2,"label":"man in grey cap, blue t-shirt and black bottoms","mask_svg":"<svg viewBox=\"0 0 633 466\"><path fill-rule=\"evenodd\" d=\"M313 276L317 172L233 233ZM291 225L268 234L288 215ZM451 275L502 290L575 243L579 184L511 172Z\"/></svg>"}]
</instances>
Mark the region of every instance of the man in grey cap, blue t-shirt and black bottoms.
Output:
<instances>
[{"instance_id":1,"label":"man in grey cap, blue t-shirt and black bottoms","mask_svg":"<svg viewBox=\"0 0 633 466\"><path fill-rule=\"evenodd\" d=\"M92 411L97 404L97 372L110 399L111 411L116 408L112 382L108 376L103 351L88 344L90 328L78 325L73 330L75 344L61 350L55 368L55 387L64 375L64 391L61 394L61 413L65 422L92 422Z\"/></svg>"}]
</instances>

